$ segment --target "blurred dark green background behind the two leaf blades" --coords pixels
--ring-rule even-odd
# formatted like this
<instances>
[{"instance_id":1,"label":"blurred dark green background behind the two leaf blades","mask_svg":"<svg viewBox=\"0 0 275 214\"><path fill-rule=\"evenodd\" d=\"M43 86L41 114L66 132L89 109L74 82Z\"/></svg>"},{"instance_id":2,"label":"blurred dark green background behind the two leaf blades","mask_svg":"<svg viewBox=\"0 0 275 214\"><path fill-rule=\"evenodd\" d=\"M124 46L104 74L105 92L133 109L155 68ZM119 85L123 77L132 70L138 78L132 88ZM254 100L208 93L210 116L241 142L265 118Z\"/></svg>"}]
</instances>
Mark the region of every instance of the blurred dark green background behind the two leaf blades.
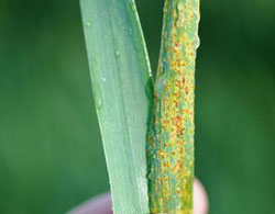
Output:
<instances>
[{"instance_id":1,"label":"blurred dark green background behind the two leaf blades","mask_svg":"<svg viewBox=\"0 0 275 214\"><path fill-rule=\"evenodd\" d=\"M155 70L163 0L136 3ZM201 1L196 174L210 214L275 213L274 21L274 0ZM78 1L0 0L0 213L64 213L108 189Z\"/></svg>"}]
</instances>

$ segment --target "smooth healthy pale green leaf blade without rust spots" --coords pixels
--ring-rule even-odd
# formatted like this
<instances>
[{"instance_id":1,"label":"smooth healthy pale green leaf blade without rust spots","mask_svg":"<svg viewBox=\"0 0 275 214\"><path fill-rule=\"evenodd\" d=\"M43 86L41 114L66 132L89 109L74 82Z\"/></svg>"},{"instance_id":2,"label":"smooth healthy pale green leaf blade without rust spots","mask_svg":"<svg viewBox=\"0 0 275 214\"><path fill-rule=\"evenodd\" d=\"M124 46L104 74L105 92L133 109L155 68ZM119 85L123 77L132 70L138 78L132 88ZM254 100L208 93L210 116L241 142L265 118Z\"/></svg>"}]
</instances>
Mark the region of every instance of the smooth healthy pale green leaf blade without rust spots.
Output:
<instances>
[{"instance_id":1,"label":"smooth healthy pale green leaf blade without rust spots","mask_svg":"<svg viewBox=\"0 0 275 214\"><path fill-rule=\"evenodd\" d=\"M80 0L80 8L113 211L148 213L146 90L153 92L135 4L132 0Z\"/></svg>"}]
</instances>

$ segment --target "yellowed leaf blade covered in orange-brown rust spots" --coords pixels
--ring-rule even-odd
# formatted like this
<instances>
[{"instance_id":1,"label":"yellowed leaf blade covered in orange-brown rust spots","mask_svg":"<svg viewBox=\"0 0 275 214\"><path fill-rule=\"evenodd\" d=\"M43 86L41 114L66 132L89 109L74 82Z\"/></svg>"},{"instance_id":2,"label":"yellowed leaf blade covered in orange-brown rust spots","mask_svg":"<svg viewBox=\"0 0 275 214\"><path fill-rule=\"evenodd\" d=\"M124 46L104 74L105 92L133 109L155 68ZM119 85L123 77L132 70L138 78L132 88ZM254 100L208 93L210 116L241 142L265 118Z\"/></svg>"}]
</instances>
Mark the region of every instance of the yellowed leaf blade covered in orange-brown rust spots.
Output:
<instances>
[{"instance_id":1,"label":"yellowed leaf blade covered in orange-brown rust spots","mask_svg":"<svg viewBox=\"0 0 275 214\"><path fill-rule=\"evenodd\" d=\"M151 213L193 213L199 0L166 0L148 138Z\"/></svg>"}]
</instances>

